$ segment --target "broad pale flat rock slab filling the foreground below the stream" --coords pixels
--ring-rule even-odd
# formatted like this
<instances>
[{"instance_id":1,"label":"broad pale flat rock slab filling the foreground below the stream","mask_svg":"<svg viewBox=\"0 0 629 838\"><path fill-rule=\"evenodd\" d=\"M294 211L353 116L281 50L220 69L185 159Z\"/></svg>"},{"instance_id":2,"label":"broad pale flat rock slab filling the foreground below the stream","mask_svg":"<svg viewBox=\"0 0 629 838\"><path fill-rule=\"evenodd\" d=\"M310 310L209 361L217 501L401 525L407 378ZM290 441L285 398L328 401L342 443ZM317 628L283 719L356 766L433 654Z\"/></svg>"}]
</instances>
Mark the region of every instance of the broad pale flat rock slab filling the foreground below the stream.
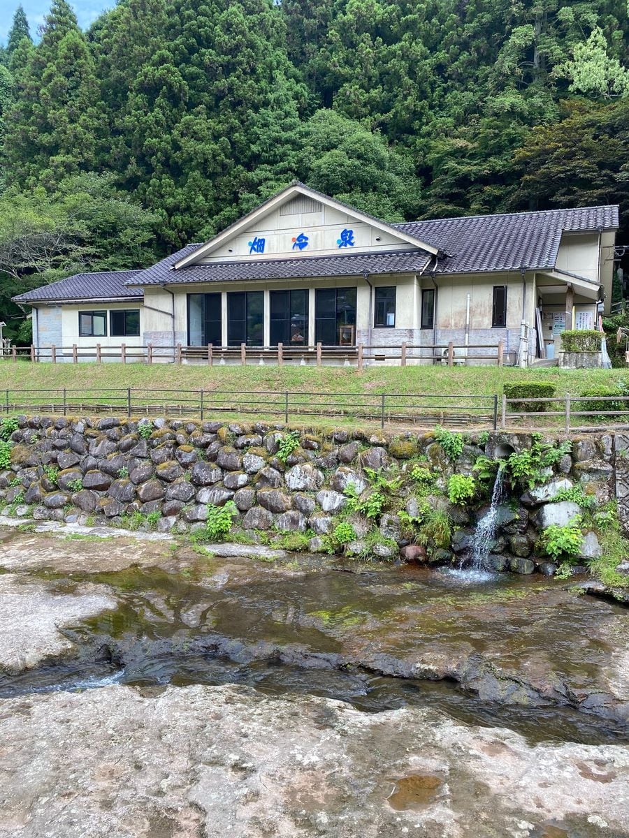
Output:
<instances>
[{"instance_id":1,"label":"broad pale flat rock slab filling the foreground below the stream","mask_svg":"<svg viewBox=\"0 0 629 838\"><path fill-rule=\"evenodd\" d=\"M117 685L0 701L0 737L2 838L629 835L629 749L433 710Z\"/></svg>"}]
</instances>

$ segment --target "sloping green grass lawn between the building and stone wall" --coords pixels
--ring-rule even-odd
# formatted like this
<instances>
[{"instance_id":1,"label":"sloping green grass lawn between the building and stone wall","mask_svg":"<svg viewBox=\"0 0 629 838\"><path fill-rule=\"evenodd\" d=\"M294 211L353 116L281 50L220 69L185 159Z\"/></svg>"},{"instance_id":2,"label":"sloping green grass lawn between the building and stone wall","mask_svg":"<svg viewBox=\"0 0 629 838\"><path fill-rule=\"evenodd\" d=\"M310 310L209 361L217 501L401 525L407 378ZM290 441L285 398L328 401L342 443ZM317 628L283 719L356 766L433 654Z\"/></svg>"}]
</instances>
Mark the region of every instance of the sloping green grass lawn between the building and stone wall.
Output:
<instances>
[{"instance_id":1,"label":"sloping green grass lawn between the building and stone wall","mask_svg":"<svg viewBox=\"0 0 629 838\"><path fill-rule=\"evenodd\" d=\"M196 366L144 364L0 363L0 412L132 416L199 416L224 420L281 421L286 391L289 422L314 426L379 425L434 427L465 424L491 427L493 396L514 381L552 382L556 395L580 395L585 387L625 380L629 370L519 370L497 366L344 367ZM63 391L65 388L65 396ZM127 388L132 388L131 409ZM203 411L200 391L203 390ZM5 391L3 393L3 391ZM9 391L8 394L6 391ZM24 391L42 391L40 393ZM48 392L44 392L48 391ZM56 391L56 392L55 392ZM79 392L81 391L81 392ZM117 391L117 392L115 392ZM153 392L148 392L153 391ZM161 392L154 392L161 391ZM386 394L386 406L382 394ZM418 396L432 396L421 399ZM485 396L474 399L471 396ZM551 410L563 409L550 406ZM559 427L559 417L541 416L520 427ZM590 418L585 420L591 423ZM574 417L573 427L584 421Z\"/></svg>"}]
</instances>

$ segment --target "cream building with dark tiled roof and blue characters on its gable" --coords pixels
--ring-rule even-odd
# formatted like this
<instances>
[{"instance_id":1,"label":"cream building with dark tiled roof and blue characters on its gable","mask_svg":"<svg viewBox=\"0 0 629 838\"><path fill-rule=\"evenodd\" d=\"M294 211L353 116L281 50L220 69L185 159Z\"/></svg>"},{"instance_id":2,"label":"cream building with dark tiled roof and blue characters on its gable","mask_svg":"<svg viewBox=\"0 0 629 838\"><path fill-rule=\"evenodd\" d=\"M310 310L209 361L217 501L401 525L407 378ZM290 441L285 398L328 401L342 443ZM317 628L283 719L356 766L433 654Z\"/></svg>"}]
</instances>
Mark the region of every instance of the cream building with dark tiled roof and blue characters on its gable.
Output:
<instances>
[{"instance_id":1,"label":"cream building with dark tiled roof and blue characters on its gable","mask_svg":"<svg viewBox=\"0 0 629 838\"><path fill-rule=\"evenodd\" d=\"M530 360L609 310L617 227L617 206L388 224L293 184L143 270L14 300L34 308L40 348L407 344L432 359L500 341Z\"/></svg>"}]
</instances>

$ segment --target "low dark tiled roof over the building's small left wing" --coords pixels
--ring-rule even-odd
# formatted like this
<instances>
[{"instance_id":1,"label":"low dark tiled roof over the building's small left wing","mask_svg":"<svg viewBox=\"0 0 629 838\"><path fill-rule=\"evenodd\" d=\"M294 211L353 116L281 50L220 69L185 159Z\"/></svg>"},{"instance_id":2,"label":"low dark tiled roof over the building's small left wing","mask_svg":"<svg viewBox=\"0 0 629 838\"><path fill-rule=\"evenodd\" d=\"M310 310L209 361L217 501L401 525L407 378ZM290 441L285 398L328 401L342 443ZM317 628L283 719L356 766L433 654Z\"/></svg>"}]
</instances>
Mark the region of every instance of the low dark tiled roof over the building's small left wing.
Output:
<instances>
[{"instance_id":1,"label":"low dark tiled roof over the building's small left wing","mask_svg":"<svg viewBox=\"0 0 629 838\"><path fill-rule=\"evenodd\" d=\"M141 288L131 287L130 282L138 271L99 271L77 273L13 297L16 303L63 303L70 300L100 300L124 297L141 300Z\"/></svg>"}]
</instances>

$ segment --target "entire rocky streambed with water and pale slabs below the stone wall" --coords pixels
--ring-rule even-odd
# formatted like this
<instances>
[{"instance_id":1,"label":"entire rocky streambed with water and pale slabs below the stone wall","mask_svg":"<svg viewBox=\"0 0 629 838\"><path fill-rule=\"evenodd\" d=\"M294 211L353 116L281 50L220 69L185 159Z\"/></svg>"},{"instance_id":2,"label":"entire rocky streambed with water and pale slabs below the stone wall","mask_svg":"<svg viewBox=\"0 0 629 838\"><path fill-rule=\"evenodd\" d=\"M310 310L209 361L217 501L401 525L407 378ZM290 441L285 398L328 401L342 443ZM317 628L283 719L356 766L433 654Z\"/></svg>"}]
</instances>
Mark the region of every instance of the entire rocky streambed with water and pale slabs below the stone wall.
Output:
<instances>
[{"instance_id":1,"label":"entire rocky streambed with water and pale slabs below the stone wall","mask_svg":"<svg viewBox=\"0 0 629 838\"><path fill-rule=\"evenodd\" d=\"M0 525L0 835L629 835L574 580L55 526Z\"/></svg>"}]
</instances>

